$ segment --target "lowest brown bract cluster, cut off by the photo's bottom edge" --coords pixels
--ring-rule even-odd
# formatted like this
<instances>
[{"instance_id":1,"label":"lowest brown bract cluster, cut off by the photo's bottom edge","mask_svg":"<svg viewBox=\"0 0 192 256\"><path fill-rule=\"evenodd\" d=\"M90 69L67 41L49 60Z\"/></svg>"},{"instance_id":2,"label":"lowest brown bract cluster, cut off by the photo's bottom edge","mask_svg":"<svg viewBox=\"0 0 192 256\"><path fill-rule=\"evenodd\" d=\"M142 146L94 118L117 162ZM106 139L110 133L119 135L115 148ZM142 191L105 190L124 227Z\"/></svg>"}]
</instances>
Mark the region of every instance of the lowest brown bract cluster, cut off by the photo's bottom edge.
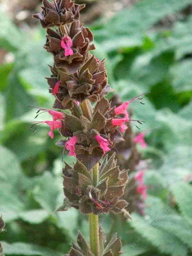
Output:
<instances>
[{"instance_id":1,"label":"lowest brown bract cluster, cut off by the photo's bottom edge","mask_svg":"<svg viewBox=\"0 0 192 256\"><path fill-rule=\"evenodd\" d=\"M117 234L114 234L109 243L106 242L106 236L103 229L99 229L99 243L100 243L100 256L120 256L122 243L121 238L117 237ZM78 246L73 243L69 254L64 256L95 256L89 247L89 244L85 240L85 237L81 232L78 232L77 236Z\"/></svg>"}]
</instances>

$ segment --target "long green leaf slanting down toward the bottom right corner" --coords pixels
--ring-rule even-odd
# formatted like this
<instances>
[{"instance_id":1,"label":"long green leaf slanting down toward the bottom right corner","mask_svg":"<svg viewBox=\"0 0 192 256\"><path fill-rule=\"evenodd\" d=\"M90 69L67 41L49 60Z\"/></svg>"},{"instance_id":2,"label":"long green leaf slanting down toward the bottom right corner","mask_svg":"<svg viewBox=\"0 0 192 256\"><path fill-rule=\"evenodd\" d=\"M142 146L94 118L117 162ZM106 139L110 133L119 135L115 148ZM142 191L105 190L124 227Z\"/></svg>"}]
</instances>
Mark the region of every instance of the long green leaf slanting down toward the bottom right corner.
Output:
<instances>
[{"instance_id":1,"label":"long green leaf slanting down toward the bottom right corner","mask_svg":"<svg viewBox=\"0 0 192 256\"><path fill-rule=\"evenodd\" d=\"M172 256L187 255L187 248L176 236L153 227L136 213L132 214L132 220L131 226L152 245L157 247L161 253L171 254Z\"/></svg>"}]
</instances>

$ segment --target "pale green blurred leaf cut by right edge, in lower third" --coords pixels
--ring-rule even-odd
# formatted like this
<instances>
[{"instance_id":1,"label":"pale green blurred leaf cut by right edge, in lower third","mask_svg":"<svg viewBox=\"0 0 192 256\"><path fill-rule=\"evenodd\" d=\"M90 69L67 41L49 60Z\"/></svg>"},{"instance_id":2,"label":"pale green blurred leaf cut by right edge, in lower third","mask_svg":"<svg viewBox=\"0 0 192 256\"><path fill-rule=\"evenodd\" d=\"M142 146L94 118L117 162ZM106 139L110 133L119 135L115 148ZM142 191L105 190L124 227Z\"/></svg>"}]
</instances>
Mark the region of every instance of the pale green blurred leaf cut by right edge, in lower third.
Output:
<instances>
[{"instance_id":1,"label":"pale green blurred leaf cut by right edge, in lower third","mask_svg":"<svg viewBox=\"0 0 192 256\"><path fill-rule=\"evenodd\" d=\"M192 186L185 182L177 182L170 189L179 205L181 213L192 219Z\"/></svg>"}]
</instances>

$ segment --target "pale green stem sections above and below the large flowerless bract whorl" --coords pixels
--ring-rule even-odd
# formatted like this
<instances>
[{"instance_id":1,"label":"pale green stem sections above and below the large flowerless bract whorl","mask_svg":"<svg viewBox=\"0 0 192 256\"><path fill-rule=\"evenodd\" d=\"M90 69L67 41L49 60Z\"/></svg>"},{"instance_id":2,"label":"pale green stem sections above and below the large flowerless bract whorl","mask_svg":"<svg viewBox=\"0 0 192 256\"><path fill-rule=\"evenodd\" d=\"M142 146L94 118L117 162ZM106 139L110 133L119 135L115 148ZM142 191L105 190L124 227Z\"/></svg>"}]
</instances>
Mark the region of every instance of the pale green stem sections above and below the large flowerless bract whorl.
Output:
<instances>
[{"instance_id":1,"label":"pale green stem sections above and below the large flowerless bract whorl","mask_svg":"<svg viewBox=\"0 0 192 256\"><path fill-rule=\"evenodd\" d=\"M99 164L97 163L92 169L93 185L96 186L98 182ZM90 231L90 244L94 256L100 256L99 246L99 220L98 215L93 213L89 214L89 231Z\"/></svg>"}]
</instances>

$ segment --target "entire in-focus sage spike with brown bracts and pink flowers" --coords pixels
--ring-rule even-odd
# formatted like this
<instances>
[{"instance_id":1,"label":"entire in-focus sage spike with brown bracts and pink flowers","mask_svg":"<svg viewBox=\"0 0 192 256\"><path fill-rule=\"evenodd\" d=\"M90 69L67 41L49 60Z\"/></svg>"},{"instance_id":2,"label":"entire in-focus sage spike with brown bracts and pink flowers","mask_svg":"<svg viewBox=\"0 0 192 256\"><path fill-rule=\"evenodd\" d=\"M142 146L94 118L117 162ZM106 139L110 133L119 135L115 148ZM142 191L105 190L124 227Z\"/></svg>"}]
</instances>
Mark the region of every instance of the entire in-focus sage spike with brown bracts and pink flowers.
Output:
<instances>
[{"instance_id":1,"label":"entire in-focus sage spike with brown bracts and pink flowers","mask_svg":"<svg viewBox=\"0 0 192 256\"><path fill-rule=\"evenodd\" d=\"M77 159L74 166L65 162L65 199L57 210L74 207L89 216L90 245L79 232L78 246L73 244L66 255L119 256L120 238L114 234L106 244L98 216L112 212L130 218L126 210L128 203L121 199L128 181L127 170L120 170L116 153L108 153L115 144L123 141L126 124L137 121L129 119L127 107L140 98L113 107L105 98L112 89L108 84L105 61L91 52L95 49L93 34L79 21L80 10L84 7L84 4L78 5L71 0L43 0L42 13L33 15L47 29L44 47L54 57L47 82L49 92L55 97L53 108L56 109L39 108L38 115L47 111L53 121L39 121L33 127L47 124L51 139L58 130L64 137L58 146Z\"/></svg>"}]
</instances>

